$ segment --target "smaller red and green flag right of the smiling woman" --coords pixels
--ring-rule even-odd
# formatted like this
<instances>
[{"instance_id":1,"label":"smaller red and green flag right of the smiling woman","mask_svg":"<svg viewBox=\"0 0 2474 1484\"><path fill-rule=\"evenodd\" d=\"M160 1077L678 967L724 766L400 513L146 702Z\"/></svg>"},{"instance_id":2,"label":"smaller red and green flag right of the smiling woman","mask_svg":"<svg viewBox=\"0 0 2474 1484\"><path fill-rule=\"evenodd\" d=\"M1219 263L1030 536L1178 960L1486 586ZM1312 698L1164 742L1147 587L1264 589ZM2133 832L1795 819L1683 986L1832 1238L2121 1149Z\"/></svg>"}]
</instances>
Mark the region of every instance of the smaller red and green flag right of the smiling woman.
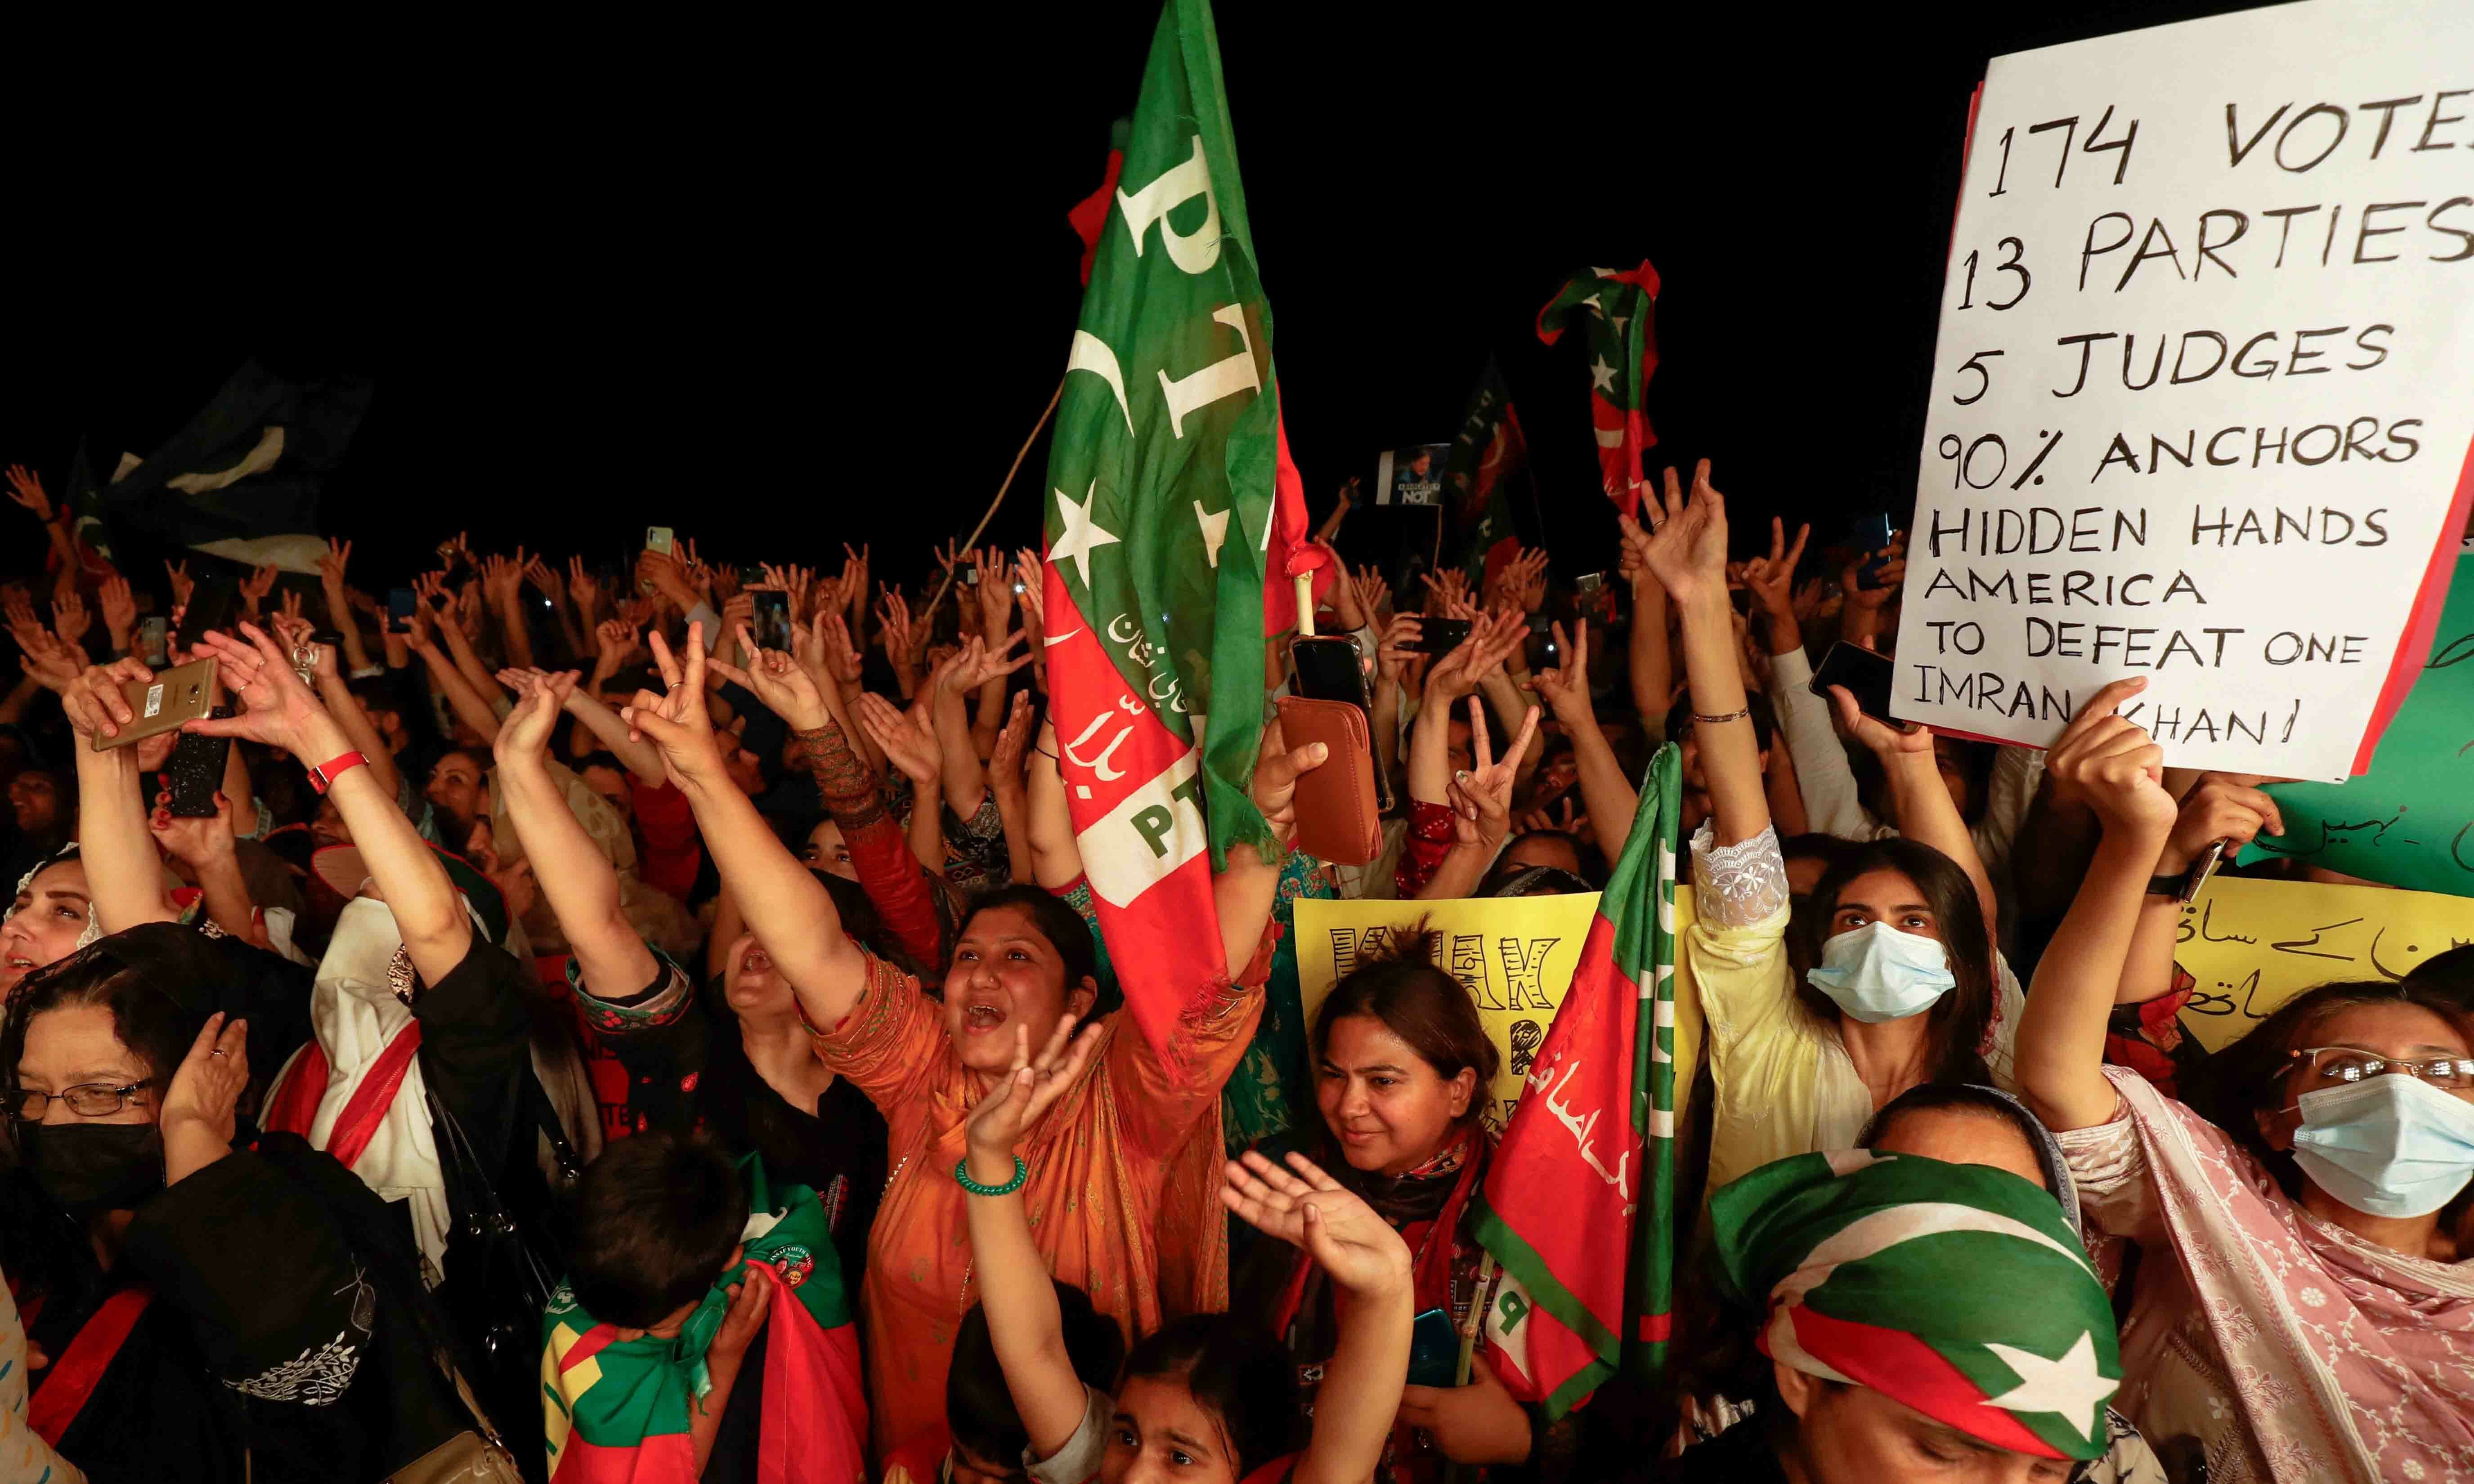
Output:
<instances>
[{"instance_id":1,"label":"smaller red and green flag right of the smiling woman","mask_svg":"<svg viewBox=\"0 0 2474 1484\"><path fill-rule=\"evenodd\" d=\"M1675 801L1650 759L1623 861L1487 1165L1477 1239L1504 1274L1494 1375L1549 1417L1618 1368L1655 1380L1675 1311Z\"/></svg>"}]
</instances>

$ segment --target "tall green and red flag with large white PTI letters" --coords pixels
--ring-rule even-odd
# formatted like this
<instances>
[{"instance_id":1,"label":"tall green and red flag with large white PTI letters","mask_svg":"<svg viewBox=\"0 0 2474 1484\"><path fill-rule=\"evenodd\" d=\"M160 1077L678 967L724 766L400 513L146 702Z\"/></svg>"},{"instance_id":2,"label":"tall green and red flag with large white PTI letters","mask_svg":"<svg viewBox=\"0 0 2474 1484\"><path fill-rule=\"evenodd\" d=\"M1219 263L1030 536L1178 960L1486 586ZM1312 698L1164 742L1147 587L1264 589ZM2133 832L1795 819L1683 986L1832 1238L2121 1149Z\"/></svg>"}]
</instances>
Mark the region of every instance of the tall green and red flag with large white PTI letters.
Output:
<instances>
[{"instance_id":1,"label":"tall green and red flag with large white PTI letters","mask_svg":"<svg viewBox=\"0 0 2474 1484\"><path fill-rule=\"evenodd\" d=\"M1168 1051L1220 979L1212 863L1272 841L1247 779L1306 537L1207 0L1160 10L1123 143L1049 453L1047 646L1101 935Z\"/></svg>"}]
</instances>

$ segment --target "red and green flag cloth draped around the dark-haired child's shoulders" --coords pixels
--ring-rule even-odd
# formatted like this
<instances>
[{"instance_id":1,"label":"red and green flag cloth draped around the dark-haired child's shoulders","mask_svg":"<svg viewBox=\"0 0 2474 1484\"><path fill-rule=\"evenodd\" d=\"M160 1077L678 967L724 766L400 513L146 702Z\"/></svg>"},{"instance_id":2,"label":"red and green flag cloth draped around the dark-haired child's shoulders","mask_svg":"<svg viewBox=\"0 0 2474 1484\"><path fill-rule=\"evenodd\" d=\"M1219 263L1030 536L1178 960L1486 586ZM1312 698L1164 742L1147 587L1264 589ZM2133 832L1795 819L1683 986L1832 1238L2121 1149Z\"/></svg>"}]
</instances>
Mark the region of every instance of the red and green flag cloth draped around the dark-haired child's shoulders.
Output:
<instances>
[{"instance_id":1,"label":"red and green flag cloth draped around the dark-haired child's shoulders","mask_svg":"<svg viewBox=\"0 0 2474 1484\"><path fill-rule=\"evenodd\" d=\"M542 1313L542 1412L552 1484L690 1484L693 1407L713 1390L705 1348L722 1328L730 1284L762 1266L782 1286L764 1316L764 1388L757 1444L762 1484L866 1479L868 1402L854 1303L816 1192L769 1190L757 1155L747 1177L747 1252L725 1271L678 1336L621 1341L559 1284ZM792 1303L797 1298L797 1303Z\"/></svg>"}]
</instances>

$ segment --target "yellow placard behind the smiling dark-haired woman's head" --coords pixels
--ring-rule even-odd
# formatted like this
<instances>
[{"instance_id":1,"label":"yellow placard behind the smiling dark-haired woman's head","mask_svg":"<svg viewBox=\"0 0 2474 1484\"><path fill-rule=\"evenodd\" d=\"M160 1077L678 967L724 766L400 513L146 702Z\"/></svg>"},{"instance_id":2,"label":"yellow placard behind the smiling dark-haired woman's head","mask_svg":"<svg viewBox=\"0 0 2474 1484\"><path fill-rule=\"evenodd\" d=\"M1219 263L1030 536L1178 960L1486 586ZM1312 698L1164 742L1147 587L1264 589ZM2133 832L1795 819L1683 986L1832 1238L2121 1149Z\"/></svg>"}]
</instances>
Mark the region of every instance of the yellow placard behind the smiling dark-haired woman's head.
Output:
<instances>
[{"instance_id":1,"label":"yellow placard behind the smiling dark-haired woman's head","mask_svg":"<svg viewBox=\"0 0 2474 1484\"><path fill-rule=\"evenodd\" d=\"M1301 898L1296 903L1296 987L1306 1004L1306 1024L1314 1024L1324 997L1356 967L1363 952L1425 918L1427 932L1442 935L1435 965L1460 979L1477 999L1477 1019L1484 1021L1487 1036L1494 1039L1494 1051L1502 1056L1489 1088L1492 1106L1484 1113L1487 1128L1499 1135L1522 1101L1529 1059L1546 1041L1546 1026L1554 1024L1554 1012L1564 1004L1564 989L1571 987L1571 972L1581 962L1581 945L1588 942L1588 925L1596 915L1598 893L1437 903ZM1702 1041L1700 997L1692 994L1685 977L1682 937L1690 925L1692 888L1677 885L1677 1115L1692 1091ZM1306 1071L1314 1073L1311 1066Z\"/></svg>"}]
</instances>

